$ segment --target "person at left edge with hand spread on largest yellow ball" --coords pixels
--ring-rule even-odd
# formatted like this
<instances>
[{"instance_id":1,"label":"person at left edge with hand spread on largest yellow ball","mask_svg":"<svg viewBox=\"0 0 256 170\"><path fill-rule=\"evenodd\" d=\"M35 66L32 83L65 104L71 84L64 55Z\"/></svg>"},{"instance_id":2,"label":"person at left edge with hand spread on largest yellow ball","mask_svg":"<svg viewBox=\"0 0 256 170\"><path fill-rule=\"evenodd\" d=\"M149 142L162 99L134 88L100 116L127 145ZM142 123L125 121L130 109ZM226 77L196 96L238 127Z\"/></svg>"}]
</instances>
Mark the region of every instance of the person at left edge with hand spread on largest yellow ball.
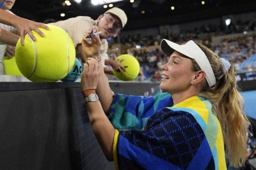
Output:
<instances>
[{"instance_id":1,"label":"person at left edge with hand spread on largest yellow ball","mask_svg":"<svg viewBox=\"0 0 256 170\"><path fill-rule=\"evenodd\" d=\"M40 31L38 27L49 29L43 23L32 22L14 15L13 12L9 11L13 7L14 3L15 0L0 1L0 75L6 74L5 67L3 65L3 56L5 56L5 54L9 57L14 55L14 46L18 42L19 38L21 44L24 44L24 36L28 33L31 39L35 41L36 39L31 30L34 30L41 36L44 36L43 32ZM6 44L11 46L7 47Z\"/></svg>"}]
</instances>

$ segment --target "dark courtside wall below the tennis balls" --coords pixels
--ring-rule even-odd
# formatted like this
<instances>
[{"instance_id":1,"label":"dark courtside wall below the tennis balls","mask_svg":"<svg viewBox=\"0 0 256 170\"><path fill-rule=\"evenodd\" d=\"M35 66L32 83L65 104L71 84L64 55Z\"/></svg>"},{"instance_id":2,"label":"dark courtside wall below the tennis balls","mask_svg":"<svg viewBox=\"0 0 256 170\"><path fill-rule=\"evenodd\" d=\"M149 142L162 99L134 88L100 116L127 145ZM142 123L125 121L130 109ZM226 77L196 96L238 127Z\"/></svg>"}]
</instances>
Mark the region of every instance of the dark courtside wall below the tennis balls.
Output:
<instances>
[{"instance_id":1,"label":"dark courtside wall below the tennis balls","mask_svg":"<svg viewBox=\"0 0 256 170\"><path fill-rule=\"evenodd\" d=\"M159 83L112 82L155 95ZM94 136L80 83L0 82L0 169L114 169Z\"/></svg>"}]
</instances>

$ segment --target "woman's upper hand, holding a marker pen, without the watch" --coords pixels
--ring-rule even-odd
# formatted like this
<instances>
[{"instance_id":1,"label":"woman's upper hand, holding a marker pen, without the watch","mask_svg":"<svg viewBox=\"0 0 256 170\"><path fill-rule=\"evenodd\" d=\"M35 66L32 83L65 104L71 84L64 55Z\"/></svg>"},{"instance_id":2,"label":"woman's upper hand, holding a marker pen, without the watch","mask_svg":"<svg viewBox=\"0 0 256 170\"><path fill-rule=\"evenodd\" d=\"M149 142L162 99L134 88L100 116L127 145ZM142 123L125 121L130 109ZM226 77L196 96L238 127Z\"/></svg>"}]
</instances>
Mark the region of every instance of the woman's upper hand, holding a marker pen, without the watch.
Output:
<instances>
[{"instance_id":1,"label":"woman's upper hand, holding a marker pen, without the watch","mask_svg":"<svg viewBox=\"0 0 256 170\"><path fill-rule=\"evenodd\" d=\"M88 32L84 33L82 37L82 49L86 57L93 57L96 60L100 58L101 50L101 40L99 35L94 35L94 32L98 32L98 27L94 25L92 28L88 28ZM86 38L86 36L92 35L91 38Z\"/></svg>"}]
</instances>

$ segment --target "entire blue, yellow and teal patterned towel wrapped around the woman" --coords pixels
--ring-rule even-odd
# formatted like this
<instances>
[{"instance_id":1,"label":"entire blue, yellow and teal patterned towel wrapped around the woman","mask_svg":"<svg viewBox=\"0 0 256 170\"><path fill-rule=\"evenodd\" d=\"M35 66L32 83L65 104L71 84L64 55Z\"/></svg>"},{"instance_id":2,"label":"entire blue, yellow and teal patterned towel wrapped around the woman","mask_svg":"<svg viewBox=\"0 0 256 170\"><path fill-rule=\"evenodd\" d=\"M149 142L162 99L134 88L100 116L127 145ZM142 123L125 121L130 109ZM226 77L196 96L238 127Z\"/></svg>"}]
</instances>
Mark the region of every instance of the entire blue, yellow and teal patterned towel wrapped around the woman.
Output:
<instances>
[{"instance_id":1,"label":"entire blue, yellow and teal patterned towel wrapped around the woman","mask_svg":"<svg viewBox=\"0 0 256 170\"><path fill-rule=\"evenodd\" d=\"M221 126L212 104L193 96L116 94L109 120L116 169L226 169Z\"/></svg>"}]
</instances>

